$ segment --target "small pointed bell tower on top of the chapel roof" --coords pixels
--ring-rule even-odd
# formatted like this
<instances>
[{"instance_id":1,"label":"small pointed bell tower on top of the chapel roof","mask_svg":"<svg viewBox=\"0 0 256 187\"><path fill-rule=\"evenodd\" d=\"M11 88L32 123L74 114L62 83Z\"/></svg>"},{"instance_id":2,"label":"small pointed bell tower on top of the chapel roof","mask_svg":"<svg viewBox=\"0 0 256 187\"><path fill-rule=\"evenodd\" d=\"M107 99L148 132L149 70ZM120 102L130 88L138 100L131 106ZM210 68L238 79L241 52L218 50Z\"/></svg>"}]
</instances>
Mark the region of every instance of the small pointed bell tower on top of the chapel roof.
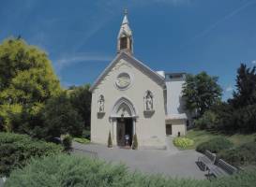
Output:
<instances>
[{"instance_id":1,"label":"small pointed bell tower on top of the chapel roof","mask_svg":"<svg viewBox=\"0 0 256 187\"><path fill-rule=\"evenodd\" d=\"M117 53L120 51L127 51L129 54L133 53L133 39L132 32L128 26L128 10L124 11L124 19L117 36Z\"/></svg>"}]
</instances>

